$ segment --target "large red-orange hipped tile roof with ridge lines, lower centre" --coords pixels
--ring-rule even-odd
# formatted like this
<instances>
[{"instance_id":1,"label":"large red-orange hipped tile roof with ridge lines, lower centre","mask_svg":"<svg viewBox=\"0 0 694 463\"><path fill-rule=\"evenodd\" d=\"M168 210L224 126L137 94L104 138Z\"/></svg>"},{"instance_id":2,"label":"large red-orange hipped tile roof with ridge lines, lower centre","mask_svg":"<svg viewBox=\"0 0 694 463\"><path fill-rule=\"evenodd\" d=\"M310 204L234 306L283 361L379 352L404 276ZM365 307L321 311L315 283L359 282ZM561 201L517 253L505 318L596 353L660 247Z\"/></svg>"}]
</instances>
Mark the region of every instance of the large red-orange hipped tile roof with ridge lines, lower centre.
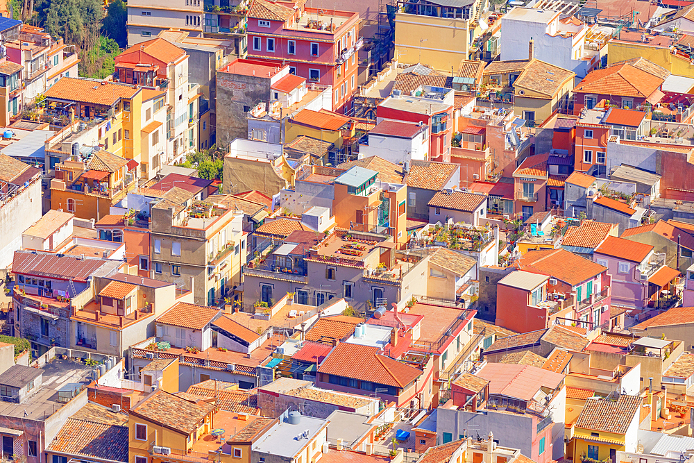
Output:
<instances>
[{"instance_id":1,"label":"large red-orange hipped tile roof with ridge lines, lower centre","mask_svg":"<svg viewBox=\"0 0 694 463\"><path fill-rule=\"evenodd\" d=\"M394 387L405 387L422 375L421 370L380 355L379 351L375 346L342 342L332 349L318 371Z\"/></svg>"}]
</instances>

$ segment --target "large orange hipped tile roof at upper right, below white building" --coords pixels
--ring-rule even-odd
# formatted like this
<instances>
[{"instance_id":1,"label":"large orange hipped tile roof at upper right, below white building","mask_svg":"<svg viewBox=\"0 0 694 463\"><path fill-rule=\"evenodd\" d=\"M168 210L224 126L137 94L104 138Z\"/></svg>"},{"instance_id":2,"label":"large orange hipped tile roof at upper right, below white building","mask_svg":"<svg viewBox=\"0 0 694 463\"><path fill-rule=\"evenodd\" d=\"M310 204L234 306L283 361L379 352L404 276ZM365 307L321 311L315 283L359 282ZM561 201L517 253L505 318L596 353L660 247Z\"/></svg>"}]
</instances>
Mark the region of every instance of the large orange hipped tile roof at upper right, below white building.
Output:
<instances>
[{"instance_id":1,"label":"large orange hipped tile roof at upper right, below white building","mask_svg":"<svg viewBox=\"0 0 694 463\"><path fill-rule=\"evenodd\" d=\"M664 81L663 78L623 62L604 69L594 69L573 91L648 98Z\"/></svg>"}]
</instances>

